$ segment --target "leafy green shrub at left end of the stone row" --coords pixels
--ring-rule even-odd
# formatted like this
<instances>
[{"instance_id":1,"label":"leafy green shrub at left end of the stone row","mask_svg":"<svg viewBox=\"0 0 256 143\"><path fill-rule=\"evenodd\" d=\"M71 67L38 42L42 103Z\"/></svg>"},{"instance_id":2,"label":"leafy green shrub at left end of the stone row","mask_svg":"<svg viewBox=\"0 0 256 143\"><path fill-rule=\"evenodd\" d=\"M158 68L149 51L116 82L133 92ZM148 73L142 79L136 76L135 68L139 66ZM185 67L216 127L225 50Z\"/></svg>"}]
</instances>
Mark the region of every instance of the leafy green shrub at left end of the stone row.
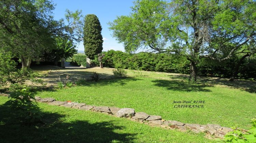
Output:
<instances>
[{"instance_id":1,"label":"leafy green shrub at left end of the stone row","mask_svg":"<svg viewBox=\"0 0 256 143\"><path fill-rule=\"evenodd\" d=\"M29 91L29 88L24 86L22 89L14 90L10 98L6 104L11 105L16 110L24 111L26 122L41 122L42 115L38 112L39 107L37 106L37 102L35 102L34 94Z\"/></svg>"}]
</instances>

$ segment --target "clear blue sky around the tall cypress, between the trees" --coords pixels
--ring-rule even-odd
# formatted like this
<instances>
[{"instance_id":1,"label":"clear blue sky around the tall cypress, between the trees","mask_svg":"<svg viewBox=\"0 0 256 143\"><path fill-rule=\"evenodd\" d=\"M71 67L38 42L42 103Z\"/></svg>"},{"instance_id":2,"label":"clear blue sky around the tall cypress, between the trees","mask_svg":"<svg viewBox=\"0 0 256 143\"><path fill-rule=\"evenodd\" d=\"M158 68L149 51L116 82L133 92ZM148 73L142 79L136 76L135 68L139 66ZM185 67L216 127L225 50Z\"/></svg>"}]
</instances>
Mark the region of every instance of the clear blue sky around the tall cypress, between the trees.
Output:
<instances>
[{"instance_id":1,"label":"clear blue sky around the tall cypress, between the trees","mask_svg":"<svg viewBox=\"0 0 256 143\"><path fill-rule=\"evenodd\" d=\"M129 15L133 0L53 0L53 3L57 4L54 10L54 18L57 20L64 18L66 9L82 10L83 15L97 15L102 26L103 51L110 49L124 51L123 44L119 44L111 36L107 23L116 19L117 16ZM78 50L84 51L83 42L77 47Z\"/></svg>"}]
</instances>

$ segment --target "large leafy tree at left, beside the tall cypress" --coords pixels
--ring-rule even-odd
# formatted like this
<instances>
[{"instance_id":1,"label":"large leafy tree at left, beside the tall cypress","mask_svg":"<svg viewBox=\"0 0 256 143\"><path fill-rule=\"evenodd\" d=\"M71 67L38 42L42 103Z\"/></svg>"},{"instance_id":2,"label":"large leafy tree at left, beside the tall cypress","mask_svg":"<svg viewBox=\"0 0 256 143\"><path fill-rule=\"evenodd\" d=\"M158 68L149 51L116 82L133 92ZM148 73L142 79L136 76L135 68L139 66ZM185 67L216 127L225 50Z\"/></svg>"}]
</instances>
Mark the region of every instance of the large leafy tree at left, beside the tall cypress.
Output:
<instances>
[{"instance_id":1,"label":"large leafy tree at left, beside the tall cypress","mask_svg":"<svg viewBox=\"0 0 256 143\"><path fill-rule=\"evenodd\" d=\"M0 46L15 54L23 67L30 67L31 60L39 61L53 49L67 49L59 47L56 37L72 43L81 39L81 11L67 10L66 20L57 21L52 13L54 4L49 0L5 0L0 7Z\"/></svg>"}]
</instances>

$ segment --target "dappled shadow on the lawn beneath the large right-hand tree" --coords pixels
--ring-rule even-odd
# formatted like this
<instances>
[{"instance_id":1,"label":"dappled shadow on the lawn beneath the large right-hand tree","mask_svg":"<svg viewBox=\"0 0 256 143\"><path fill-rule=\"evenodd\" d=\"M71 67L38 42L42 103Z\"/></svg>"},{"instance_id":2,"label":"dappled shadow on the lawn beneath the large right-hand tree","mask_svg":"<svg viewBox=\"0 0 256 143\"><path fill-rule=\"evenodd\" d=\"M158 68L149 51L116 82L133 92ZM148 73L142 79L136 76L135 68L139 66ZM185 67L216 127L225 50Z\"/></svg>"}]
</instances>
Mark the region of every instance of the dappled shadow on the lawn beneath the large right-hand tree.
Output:
<instances>
[{"instance_id":1,"label":"dappled shadow on the lawn beneath the large right-hand tree","mask_svg":"<svg viewBox=\"0 0 256 143\"><path fill-rule=\"evenodd\" d=\"M168 90L173 91L202 91L202 92L211 92L209 89L205 89L205 87L209 87L210 85L205 84L196 84L184 82L182 80L154 80L152 81L156 86L167 88Z\"/></svg>"}]
</instances>

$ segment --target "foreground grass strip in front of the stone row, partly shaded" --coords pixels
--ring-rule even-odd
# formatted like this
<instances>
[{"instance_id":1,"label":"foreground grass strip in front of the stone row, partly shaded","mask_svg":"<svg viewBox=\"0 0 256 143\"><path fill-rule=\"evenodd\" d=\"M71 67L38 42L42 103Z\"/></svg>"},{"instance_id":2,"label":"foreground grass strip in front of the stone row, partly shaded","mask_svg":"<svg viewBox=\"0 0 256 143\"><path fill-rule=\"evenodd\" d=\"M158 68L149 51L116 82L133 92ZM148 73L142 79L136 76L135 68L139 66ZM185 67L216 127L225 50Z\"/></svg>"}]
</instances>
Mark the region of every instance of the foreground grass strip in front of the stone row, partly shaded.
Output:
<instances>
[{"instance_id":1,"label":"foreground grass strip in front of the stone row, partly shaded","mask_svg":"<svg viewBox=\"0 0 256 143\"><path fill-rule=\"evenodd\" d=\"M19 123L22 114L0 96L1 142L213 142L204 134L167 130L102 113L39 103L47 124Z\"/></svg>"}]
</instances>

